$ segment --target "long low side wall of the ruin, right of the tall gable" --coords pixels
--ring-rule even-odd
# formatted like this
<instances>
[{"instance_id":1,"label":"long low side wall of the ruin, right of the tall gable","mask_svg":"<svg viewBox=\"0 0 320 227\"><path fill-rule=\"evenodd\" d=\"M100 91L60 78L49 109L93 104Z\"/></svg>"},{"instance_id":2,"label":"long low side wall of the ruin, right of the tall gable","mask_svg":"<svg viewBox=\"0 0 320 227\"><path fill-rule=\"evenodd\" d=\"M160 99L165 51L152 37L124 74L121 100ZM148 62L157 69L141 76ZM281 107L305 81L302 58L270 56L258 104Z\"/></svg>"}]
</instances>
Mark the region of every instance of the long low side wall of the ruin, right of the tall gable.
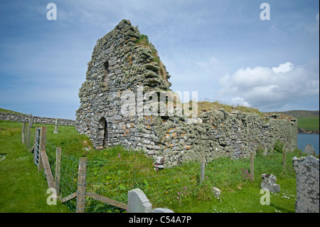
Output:
<instances>
[{"instance_id":1,"label":"long low side wall of the ruin, right of the tall gable","mask_svg":"<svg viewBox=\"0 0 320 227\"><path fill-rule=\"evenodd\" d=\"M202 152L207 162L221 156L248 157L257 149L272 150L278 139L287 150L297 148L296 120L264 119L251 113L228 113L225 110L206 112L200 115L200 119L202 122L195 124L162 120L161 124L154 125L154 134L159 140L153 139L157 144L149 145L147 152L156 156L160 153L167 160L166 164L175 165ZM146 127L149 127L148 123L146 119ZM145 147L144 144L148 143L145 140L137 144L138 147ZM150 144L153 143L150 141ZM157 151L151 152L151 148Z\"/></svg>"}]
</instances>

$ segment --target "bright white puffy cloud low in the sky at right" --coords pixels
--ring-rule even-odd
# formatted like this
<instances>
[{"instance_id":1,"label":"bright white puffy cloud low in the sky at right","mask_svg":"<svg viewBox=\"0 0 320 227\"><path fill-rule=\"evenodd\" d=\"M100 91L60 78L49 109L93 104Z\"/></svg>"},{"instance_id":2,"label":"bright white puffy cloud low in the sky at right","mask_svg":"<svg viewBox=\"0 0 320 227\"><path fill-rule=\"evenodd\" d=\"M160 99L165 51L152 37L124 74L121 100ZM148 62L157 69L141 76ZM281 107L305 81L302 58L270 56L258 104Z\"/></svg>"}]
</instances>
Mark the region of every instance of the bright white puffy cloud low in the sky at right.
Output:
<instances>
[{"instance_id":1,"label":"bright white puffy cloud low in the sky at right","mask_svg":"<svg viewBox=\"0 0 320 227\"><path fill-rule=\"evenodd\" d=\"M281 109L310 95L319 95L316 69L287 62L277 67L240 68L219 80L220 95L236 105L253 106L262 111ZM294 106L294 105L291 105Z\"/></svg>"}]
</instances>

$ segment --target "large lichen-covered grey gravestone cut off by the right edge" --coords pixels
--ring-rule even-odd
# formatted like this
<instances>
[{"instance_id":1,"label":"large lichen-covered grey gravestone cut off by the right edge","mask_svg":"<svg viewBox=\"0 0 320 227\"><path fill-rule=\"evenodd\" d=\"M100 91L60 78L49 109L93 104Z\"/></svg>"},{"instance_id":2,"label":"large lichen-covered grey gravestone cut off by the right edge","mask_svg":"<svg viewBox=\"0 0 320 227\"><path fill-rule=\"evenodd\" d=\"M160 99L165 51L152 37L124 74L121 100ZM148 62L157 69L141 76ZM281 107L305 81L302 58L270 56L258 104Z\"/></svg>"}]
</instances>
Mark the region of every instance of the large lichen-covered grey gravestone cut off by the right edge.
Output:
<instances>
[{"instance_id":1,"label":"large lichen-covered grey gravestone cut off by the right edge","mask_svg":"<svg viewBox=\"0 0 320 227\"><path fill-rule=\"evenodd\" d=\"M319 159L294 157L297 178L296 213L319 213Z\"/></svg>"}]
</instances>

